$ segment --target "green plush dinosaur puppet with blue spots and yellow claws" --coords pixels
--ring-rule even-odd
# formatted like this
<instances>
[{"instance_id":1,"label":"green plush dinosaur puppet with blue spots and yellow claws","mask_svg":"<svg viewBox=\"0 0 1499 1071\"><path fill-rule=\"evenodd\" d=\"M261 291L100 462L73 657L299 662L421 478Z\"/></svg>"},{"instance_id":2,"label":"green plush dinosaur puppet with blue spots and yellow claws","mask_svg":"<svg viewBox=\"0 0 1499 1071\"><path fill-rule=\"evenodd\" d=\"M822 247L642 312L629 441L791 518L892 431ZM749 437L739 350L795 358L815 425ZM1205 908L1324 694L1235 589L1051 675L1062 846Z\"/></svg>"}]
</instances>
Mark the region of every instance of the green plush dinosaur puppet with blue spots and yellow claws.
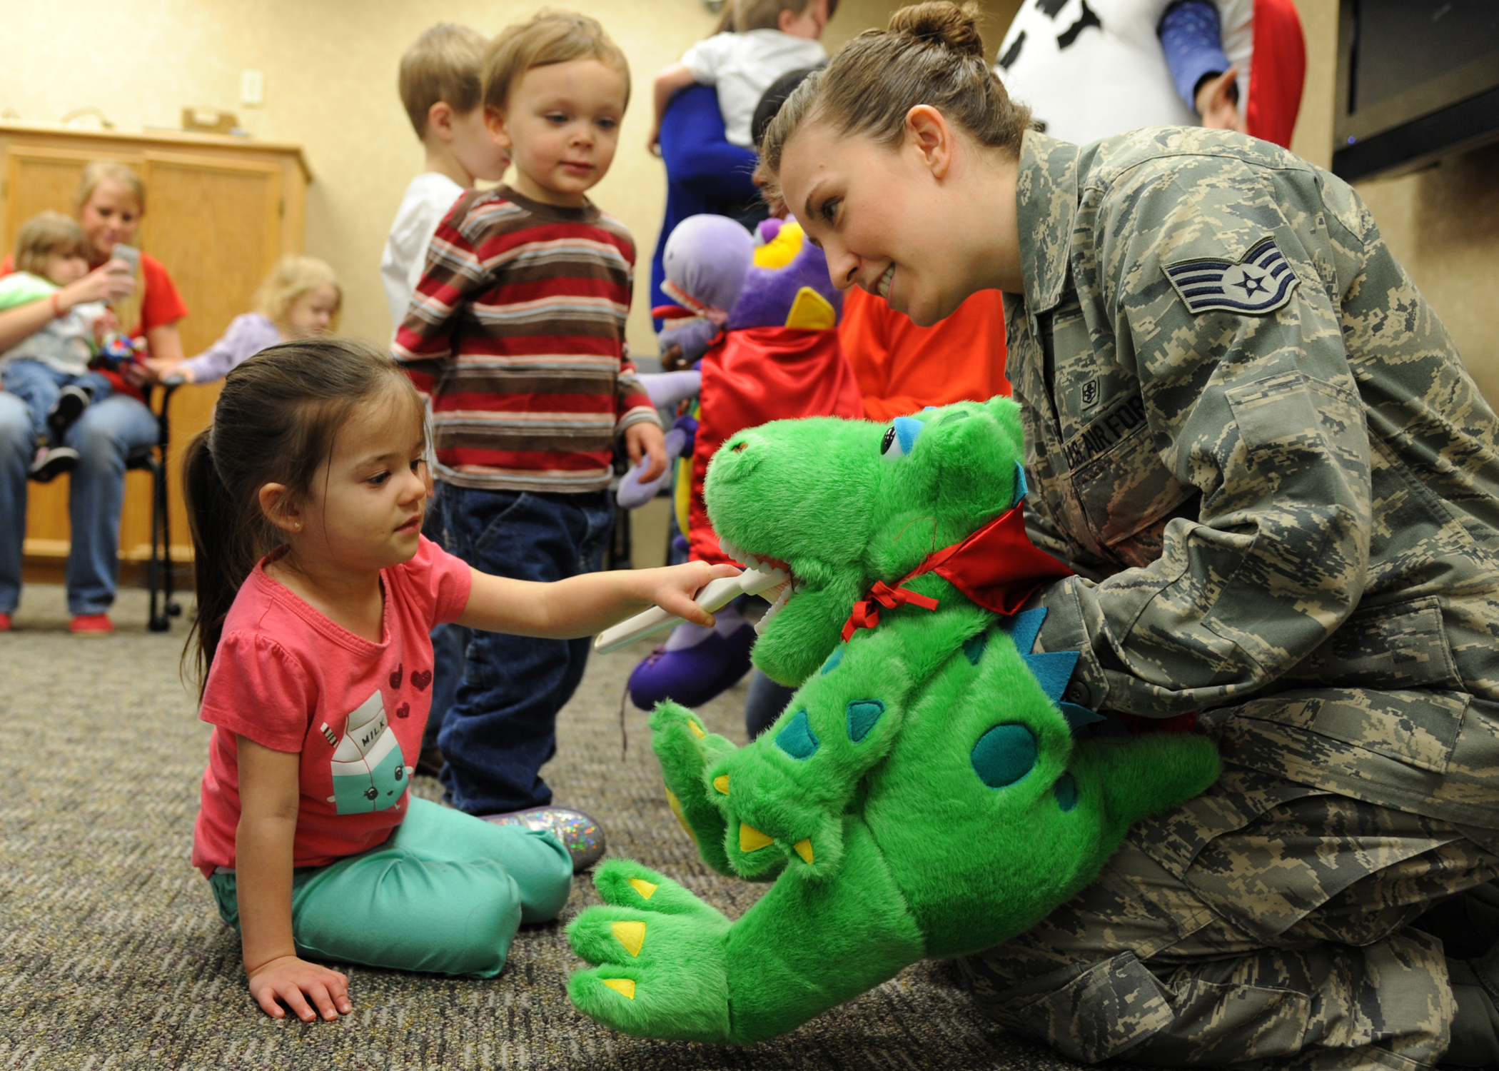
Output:
<instances>
[{"instance_id":1,"label":"green plush dinosaur puppet with blue spots and yellow claws","mask_svg":"<svg viewBox=\"0 0 1499 1071\"><path fill-rule=\"evenodd\" d=\"M1078 656L1030 654L1045 610L1015 612L1039 580L998 597L1004 616L932 554L1015 537L1019 456L1009 399L883 426L782 420L724 442L706 483L715 531L793 578L754 662L802 687L744 748L675 704L651 728L667 800L708 864L775 884L730 921L652 870L607 862L606 906L568 932L598 964L568 984L583 1012L651 1038L782 1034L919 958L1024 932L1132 822L1213 783L1202 736L1075 738L1099 718L1057 702ZM1024 568L1066 572L1022 537L1010 546ZM938 567L913 578L923 562Z\"/></svg>"}]
</instances>

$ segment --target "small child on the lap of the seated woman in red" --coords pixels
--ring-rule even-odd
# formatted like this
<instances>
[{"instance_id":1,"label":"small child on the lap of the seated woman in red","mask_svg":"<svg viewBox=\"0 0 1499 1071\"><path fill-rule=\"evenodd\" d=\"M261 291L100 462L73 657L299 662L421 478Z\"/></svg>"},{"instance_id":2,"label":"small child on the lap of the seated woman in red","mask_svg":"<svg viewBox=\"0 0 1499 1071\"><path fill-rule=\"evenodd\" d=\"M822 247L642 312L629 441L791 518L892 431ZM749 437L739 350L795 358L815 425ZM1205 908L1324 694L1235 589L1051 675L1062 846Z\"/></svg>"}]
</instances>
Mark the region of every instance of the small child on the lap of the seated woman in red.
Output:
<instances>
[{"instance_id":1,"label":"small child on the lap of the seated woman in red","mask_svg":"<svg viewBox=\"0 0 1499 1071\"><path fill-rule=\"evenodd\" d=\"M31 412L36 456L27 476L40 483L78 465L78 452L63 446L63 435L90 402L112 393L109 380L88 363L114 318L102 302L73 304L64 291L88 274L88 248L75 220L43 212L21 225L15 272L0 279L0 310L52 302L52 320L0 356L0 384Z\"/></svg>"}]
</instances>

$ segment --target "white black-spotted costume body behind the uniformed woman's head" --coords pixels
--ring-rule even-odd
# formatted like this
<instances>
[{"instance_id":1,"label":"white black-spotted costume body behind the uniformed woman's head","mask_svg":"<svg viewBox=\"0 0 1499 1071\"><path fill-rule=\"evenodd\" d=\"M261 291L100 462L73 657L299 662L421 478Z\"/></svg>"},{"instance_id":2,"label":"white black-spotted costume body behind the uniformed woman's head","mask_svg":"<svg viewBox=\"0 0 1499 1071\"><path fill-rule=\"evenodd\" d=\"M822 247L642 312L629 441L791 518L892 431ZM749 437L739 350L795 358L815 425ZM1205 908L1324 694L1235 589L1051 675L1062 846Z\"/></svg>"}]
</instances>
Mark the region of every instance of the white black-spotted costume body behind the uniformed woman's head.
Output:
<instances>
[{"instance_id":1,"label":"white black-spotted costume body behind the uniformed woman's head","mask_svg":"<svg viewBox=\"0 0 1499 1071\"><path fill-rule=\"evenodd\" d=\"M1253 0L1214 0L1223 52L1249 104ZM1198 126L1177 96L1156 36L1169 0L1027 0L1000 45L994 74L1052 138L1085 146L1141 126ZM1051 14L1048 14L1051 12Z\"/></svg>"}]
</instances>

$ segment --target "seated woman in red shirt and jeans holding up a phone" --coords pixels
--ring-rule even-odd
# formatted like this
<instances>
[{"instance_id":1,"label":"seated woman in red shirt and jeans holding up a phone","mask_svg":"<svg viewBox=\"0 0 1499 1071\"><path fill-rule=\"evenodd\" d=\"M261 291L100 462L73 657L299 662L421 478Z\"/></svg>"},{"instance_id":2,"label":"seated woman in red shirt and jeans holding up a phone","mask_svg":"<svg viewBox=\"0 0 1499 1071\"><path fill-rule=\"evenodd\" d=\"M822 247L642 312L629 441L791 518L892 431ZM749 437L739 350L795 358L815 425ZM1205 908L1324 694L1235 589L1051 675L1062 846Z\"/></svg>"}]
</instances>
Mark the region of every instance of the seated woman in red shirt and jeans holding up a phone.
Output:
<instances>
[{"instance_id":1,"label":"seated woman in red shirt and jeans holding up a phone","mask_svg":"<svg viewBox=\"0 0 1499 1071\"><path fill-rule=\"evenodd\" d=\"M78 186L78 222L88 236L90 274L58 291L58 304L70 308L87 300L120 300L139 291L139 314L129 334L144 336L148 352L159 360L181 360L177 321L187 315L177 286L160 261L139 255L139 279L111 264L114 248L129 244L145 212L145 186L130 168L96 160L84 168ZM0 273L10 270L9 258ZM78 288L76 291L73 288ZM133 302L132 302L133 304ZM51 298L0 312L0 348L9 348L45 326L55 310ZM73 634L102 636L114 632L109 606L120 580L120 510L124 506L124 462L132 452L156 442L156 417L145 405L141 387L151 372L127 363L120 372L105 372L114 393L84 410L67 429L63 446L78 452L69 477L67 514L67 610ZM12 405L12 402L16 402ZM34 456L30 416L18 399L0 394L0 630L10 627L10 614L21 594L21 546L25 540L25 470Z\"/></svg>"}]
</instances>

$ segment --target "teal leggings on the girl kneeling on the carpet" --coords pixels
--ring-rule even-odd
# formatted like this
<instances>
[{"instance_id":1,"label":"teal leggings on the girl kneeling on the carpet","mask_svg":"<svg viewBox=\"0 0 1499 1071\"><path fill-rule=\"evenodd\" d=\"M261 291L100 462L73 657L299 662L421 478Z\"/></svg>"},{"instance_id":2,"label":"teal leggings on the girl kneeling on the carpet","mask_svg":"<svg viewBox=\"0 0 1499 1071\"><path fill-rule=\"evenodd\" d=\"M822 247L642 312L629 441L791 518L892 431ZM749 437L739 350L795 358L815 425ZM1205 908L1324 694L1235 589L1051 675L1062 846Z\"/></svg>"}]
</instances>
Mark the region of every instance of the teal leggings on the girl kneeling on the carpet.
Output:
<instances>
[{"instance_id":1,"label":"teal leggings on the girl kneeling on the carpet","mask_svg":"<svg viewBox=\"0 0 1499 1071\"><path fill-rule=\"evenodd\" d=\"M208 882L238 930L234 874ZM573 860L552 834L412 798L379 848L292 872L292 939L315 960L493 978L516 927L556 918L571 886Z\"/></svg>"}]
</instances>

